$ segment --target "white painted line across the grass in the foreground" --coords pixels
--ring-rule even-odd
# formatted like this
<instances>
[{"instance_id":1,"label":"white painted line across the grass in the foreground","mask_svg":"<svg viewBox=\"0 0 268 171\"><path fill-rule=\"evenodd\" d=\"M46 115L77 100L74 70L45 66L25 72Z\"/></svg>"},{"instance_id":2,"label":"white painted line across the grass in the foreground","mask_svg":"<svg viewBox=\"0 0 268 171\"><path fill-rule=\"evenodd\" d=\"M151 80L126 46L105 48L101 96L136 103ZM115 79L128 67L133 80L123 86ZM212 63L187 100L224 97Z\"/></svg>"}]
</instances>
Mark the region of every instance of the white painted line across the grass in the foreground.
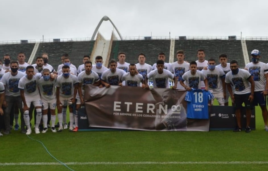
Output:
<instances>
[{"instance_id":1,"label":"white painted line across the grass in the foreground","mask_svg":"<svg viewBox=\"0 0 268 171\"><path fill-rule=\"evenodd\" d=\"M232 162L67 162L66 165L142 165L142 164L268 164L268 161L232 161ZM58 162L20 162L0 163L0 166L14 165L61 165Z\"/></svg>"}]
</instances>

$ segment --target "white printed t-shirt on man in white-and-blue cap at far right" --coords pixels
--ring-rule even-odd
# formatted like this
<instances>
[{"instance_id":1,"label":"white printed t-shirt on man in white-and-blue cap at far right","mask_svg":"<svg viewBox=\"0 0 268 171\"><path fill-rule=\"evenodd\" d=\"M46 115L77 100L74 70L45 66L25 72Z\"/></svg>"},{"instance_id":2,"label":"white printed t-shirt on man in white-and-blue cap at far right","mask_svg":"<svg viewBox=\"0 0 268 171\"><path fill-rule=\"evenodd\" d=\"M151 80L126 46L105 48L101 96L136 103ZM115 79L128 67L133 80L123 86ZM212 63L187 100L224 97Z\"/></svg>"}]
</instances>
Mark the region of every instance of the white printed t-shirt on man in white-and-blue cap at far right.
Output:
<instances>
[{"instance_id":1,"label":"white printed t-shirt on man in white-and-blue cap at far right","mask_svg":"<svg viewBox=\"0 0 268 171\"><path fill-rule=\"evenodd\" d=\"M268 65L263 62L258 62L254 64L252 62L246 64L248 72L253 76L255 83L254 91L264 91L265 90L265 76L268 73Z\"/></svg>"}]
</instances>

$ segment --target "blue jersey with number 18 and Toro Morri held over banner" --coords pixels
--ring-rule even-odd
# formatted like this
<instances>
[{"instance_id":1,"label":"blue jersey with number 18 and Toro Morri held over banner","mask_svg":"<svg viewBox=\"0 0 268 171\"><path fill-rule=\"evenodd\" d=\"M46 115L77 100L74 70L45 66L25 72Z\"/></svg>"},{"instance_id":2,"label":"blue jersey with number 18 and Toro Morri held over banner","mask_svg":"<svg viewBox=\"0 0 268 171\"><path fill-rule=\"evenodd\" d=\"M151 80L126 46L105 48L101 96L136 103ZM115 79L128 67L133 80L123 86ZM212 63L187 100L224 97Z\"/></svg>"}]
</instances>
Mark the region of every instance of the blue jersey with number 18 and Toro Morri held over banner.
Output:
<instances>
[{"instance_id":1,"label":"blue jersey with number 18 and Toro Morri held over banner","mask_svg":"<svg viewBox=\"0 0 268 171\"><path fill-rule=\"evenodd\" d=\"M187 91L185 101L187 101L187 118L209 119L208 102L213 98L210 91L202 89L192 89Z\"/></svg>"}]
</instances>

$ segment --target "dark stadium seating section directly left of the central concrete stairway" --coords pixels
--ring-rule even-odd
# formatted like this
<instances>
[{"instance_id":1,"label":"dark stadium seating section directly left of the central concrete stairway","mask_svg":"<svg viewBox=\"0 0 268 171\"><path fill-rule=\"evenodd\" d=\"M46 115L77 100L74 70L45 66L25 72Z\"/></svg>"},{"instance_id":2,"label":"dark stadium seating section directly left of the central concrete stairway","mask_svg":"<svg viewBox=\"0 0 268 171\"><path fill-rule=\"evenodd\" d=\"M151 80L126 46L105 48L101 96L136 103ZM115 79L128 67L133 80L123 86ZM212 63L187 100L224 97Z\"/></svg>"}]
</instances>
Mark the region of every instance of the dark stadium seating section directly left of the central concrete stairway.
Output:
<instances>
[{"instance_id":1,"label":"dark stadium seating section directly left of the central concrete stairway","mask_svg":"<svg viewBox=\"0 0 268 171\"><path fill-rule=\"evenodd\" d=\"M43 52L49 54L49 64L57 70L61 64L61 55L69 54L70 61L78 68L83 64L83 56L90 55L95 41L79 41L79 42L49 42L40 43L36 56L40 56ZM35 63L35 60L33 60Z\"/></svg>"}]
</instances>

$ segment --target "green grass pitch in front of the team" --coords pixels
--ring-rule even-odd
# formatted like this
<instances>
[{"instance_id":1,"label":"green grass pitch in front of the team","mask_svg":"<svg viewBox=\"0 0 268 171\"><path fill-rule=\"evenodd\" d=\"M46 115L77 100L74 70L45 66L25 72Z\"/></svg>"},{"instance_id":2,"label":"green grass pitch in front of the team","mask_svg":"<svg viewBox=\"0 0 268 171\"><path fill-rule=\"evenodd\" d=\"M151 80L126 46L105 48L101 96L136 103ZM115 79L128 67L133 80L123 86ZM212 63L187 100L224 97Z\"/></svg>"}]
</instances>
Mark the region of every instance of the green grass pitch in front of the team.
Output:
<instances>
[{"instance_id":1,"label":"green grass pitch in front of the team","mask_svg":"<svg viewBox=\"0 0 268 171\"><path fill-rule=\"evenodd\" d=\"M64 130L30 137L72 170L267 170L263 125L256 107L251 133ZM0 170L69 170L19 131L0 137L0 147Z\"/></svg>"}]
</instances>

